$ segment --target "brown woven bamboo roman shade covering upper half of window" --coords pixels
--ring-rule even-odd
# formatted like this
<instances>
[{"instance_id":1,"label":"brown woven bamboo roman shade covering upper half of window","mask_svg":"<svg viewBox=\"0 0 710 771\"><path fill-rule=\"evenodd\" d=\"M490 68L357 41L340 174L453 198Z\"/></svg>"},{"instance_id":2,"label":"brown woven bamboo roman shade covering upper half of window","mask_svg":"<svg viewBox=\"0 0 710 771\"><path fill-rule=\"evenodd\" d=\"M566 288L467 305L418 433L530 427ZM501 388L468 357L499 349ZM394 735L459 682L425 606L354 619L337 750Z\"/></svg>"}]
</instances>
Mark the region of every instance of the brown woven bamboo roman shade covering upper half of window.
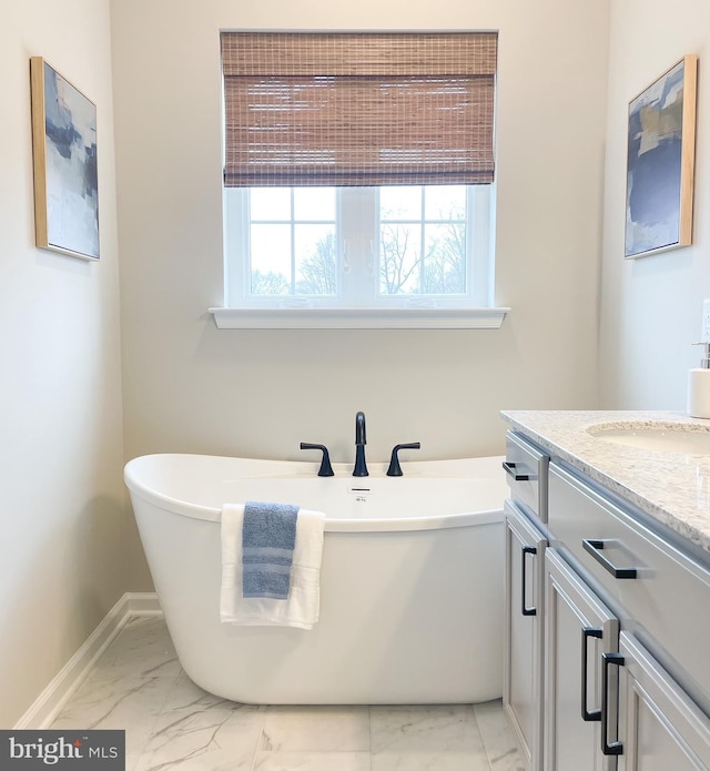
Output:
<instances>
[{"instance_id":1,"label":"brown woven bamboo roman shade covering upper half of window","mask_svg":"<svg viewBox=\"0 0 710 771\"><path fill-rule=\"evenodd\" d=\"M493 182L497 42L223 32L224 184Z\"/></svg>"}]
</instances>

